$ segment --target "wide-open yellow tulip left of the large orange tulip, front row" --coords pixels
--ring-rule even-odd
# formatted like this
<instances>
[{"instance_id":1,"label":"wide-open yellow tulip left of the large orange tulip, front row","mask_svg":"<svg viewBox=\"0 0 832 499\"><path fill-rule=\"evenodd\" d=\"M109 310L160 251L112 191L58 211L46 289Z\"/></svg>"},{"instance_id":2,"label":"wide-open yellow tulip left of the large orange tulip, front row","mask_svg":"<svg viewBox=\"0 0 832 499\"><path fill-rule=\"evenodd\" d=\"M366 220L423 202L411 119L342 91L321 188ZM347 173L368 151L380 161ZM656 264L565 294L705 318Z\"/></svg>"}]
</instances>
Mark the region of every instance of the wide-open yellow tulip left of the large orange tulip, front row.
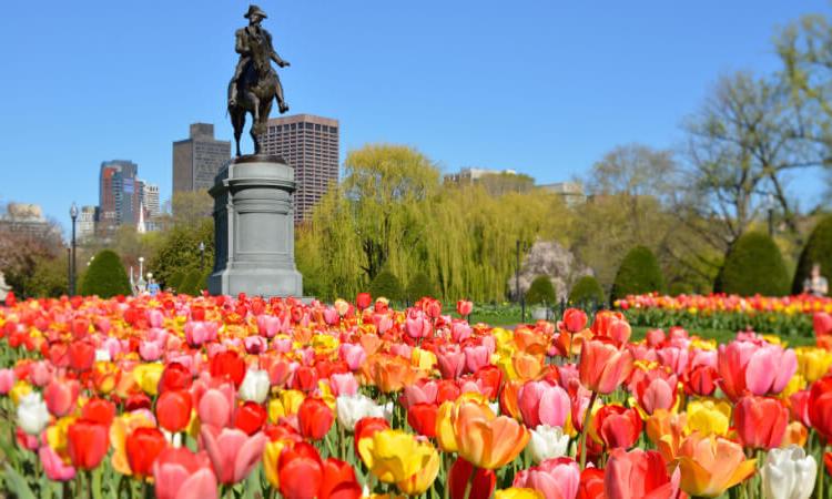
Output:
<instances>
[{"instance_id":1,"label":"wide-open yellow tulip left of the large orange tulip, front row","mask_svg":"<svg viewBox=\"0 0 832 499\"><path fill-rule=\"evenodd\" d=\"M364 464L381 481L400 483L425 467L436 449L402 430L381 430L358 441Z\"/></svg>"}]
</instances>

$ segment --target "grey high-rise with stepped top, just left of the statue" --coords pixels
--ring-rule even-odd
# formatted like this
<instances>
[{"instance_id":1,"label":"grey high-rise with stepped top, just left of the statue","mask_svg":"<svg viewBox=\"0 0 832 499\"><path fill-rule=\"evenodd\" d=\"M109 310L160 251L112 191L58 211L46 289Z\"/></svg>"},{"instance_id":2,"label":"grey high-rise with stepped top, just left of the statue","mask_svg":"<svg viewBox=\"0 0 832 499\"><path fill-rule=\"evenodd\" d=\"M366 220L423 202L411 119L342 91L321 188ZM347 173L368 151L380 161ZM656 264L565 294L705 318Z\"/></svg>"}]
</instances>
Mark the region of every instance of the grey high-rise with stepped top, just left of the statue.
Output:
<instances>
[{"instance_id":1,"label":"grey high-rise with stepped top, just left of the statue","mask_svg":"<svg viewBox=\"0 0 832 499\"><path fill-rule=\"evenodd\" d=\"M214 125L191 124L189 139L173 143L173 192L201 191L231 159L231 142L214 139Z\"/></svg>"}]
</instances>

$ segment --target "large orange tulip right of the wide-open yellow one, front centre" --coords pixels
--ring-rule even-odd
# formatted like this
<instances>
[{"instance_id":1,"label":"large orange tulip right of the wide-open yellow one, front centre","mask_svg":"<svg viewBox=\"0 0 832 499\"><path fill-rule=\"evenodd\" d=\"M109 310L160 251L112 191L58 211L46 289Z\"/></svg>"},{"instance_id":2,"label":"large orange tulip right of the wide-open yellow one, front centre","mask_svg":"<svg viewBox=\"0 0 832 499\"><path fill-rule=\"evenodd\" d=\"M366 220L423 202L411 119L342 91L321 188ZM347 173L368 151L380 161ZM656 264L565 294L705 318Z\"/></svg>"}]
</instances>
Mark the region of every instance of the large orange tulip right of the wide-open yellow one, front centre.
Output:
<instances>
[{"instance_id":1,"label":"large orange tulip right of the wide-open yellow one, front centre","mask_svg":"<svg viewBox=\"0 0 832 499\"><path fill-rule=\"evenodd\" d=\"M487 407L461 401L454 418L458 454L477 468L497 469L526 448L529 431L507 416L495 417Z\"/></svg>"}]
</instances>

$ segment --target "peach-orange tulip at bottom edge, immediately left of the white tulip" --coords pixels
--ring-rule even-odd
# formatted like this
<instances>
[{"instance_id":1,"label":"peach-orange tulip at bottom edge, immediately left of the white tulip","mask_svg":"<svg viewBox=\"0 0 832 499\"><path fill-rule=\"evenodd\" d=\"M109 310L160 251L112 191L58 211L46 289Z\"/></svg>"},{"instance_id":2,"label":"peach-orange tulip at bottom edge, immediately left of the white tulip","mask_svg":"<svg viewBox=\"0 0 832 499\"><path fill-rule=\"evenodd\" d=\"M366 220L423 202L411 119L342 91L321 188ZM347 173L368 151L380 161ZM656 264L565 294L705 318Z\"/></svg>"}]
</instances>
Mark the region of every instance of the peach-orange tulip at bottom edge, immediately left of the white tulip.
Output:
<instances>
[{"instance_id":1,"label":"peach-orange tulip at bottom edge, immediately left of the white tulip","mask_svg":"<svg viewBox=\"0 0 832 499\"><path fill-rule=\"evenodd\" d=\"M755 459L745 459L742 446L713 435L693 432L679 448L681 487L691 496L720 496L753 475L755 466Z\"/></svg>"}]
</instances>

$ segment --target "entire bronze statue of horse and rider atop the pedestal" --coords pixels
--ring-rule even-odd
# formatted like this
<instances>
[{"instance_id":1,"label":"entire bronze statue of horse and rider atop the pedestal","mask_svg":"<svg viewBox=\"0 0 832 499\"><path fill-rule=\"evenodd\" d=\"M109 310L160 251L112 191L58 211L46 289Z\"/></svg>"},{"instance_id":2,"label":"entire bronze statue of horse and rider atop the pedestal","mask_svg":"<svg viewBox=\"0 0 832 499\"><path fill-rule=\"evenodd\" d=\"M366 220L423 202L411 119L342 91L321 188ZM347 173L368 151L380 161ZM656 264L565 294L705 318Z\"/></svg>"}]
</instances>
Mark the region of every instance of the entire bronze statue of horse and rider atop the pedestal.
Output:
<instances>
[{"instance_id":1,"label":"entire bronze statue of horse and rider atop the pedestal","mask_svg":"<svg viewBox=\"0 0 832 499\"><path fill-rule=\"evenodd\" d=\"M288 62L281 59L272 47L272 35L260 24L266 13L257 6L248 6L248 26L236 31L235 50L240 54L234 77L229 83L229 114L234 126L236 155L240 156L240 135L245 128L245 114L251 113L251 129L254 141L254 154L261 154L260 136L266 132L272 100L277 100L281 114L288 111L283 98L283 85L272 68L274 61L281 68L288 68Z\"/></svg>"}]
</instances>

